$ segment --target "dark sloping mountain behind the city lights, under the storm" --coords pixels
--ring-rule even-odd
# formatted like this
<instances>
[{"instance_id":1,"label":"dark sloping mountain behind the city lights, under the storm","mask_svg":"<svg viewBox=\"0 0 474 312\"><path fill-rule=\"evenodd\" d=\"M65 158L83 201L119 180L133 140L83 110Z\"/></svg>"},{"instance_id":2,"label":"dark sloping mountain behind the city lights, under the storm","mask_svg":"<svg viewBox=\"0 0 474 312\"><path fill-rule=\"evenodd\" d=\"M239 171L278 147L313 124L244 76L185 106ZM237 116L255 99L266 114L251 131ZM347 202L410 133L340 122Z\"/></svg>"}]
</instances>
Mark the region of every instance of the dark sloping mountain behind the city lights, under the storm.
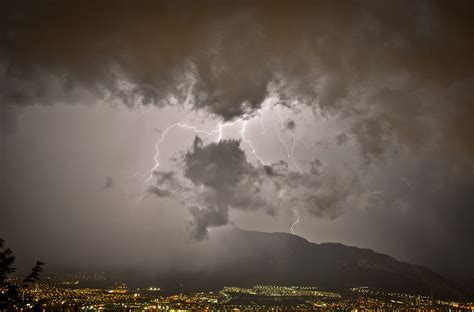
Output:
<instances>
[{"instance_id":1,"label":"dark sloping mountain behind the city lights, under the storm","mask_svg":"<svg viewBox=\"0 0 474 312\"><path fill-rule=\"evenodd\" d=\"M460 287L430 269L400 262L370 249L338 243L315 244L287 233L237 228L213 242L207 266L155 276L173 291L212 290L256 284L347 289L370 286L442 298L462 298Z\"/></svg>"}]
</instances>

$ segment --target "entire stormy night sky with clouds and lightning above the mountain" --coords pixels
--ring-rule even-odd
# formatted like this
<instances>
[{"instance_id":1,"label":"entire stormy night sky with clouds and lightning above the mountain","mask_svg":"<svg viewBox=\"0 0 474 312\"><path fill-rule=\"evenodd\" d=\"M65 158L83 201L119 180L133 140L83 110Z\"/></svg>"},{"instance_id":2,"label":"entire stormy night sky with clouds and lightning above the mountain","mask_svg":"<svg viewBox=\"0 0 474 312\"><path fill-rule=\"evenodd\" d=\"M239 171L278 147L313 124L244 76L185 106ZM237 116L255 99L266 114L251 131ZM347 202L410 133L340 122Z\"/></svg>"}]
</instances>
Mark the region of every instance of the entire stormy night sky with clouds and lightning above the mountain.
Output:
<instances>
[{"instance_id":1,"label":"entire stormy night sky with clouds and lightning above the mountain","mask_svg":"<svg viewBox=\"0 0 474 312\"><path fill-rule=\"evenodd\" d=\"M2 1L0 237L19 266L169 267L293 228L472 277L473 15Z\"/></svg>"}]
</instances>

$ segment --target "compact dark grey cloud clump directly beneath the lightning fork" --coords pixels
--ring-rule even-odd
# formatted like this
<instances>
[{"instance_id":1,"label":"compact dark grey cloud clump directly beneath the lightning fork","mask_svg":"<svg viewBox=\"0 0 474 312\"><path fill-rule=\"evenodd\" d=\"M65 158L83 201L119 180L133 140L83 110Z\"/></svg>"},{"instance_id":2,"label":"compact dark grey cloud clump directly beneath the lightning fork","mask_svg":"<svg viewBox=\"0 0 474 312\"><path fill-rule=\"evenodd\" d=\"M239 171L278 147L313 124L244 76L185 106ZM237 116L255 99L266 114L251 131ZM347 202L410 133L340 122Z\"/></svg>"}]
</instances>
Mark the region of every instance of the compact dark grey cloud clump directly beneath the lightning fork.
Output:
<instances>
[{"instance_id":1,"label":"compact dark grey cloud clump directly beneath the lightning fork","mask_svg":"<svg viewBox=\"0 0 474 312\"><path fill-rule=\"evenodd\" d=\"M252 210L270 205L261 193L259 170L247 161L239 145L236 140L203 145L196 137L184 157L184 176L196 188L190 208L190 233L195 239L207 237L209 227L228 224L230 208Z\"/></svg>"}]
</instances>

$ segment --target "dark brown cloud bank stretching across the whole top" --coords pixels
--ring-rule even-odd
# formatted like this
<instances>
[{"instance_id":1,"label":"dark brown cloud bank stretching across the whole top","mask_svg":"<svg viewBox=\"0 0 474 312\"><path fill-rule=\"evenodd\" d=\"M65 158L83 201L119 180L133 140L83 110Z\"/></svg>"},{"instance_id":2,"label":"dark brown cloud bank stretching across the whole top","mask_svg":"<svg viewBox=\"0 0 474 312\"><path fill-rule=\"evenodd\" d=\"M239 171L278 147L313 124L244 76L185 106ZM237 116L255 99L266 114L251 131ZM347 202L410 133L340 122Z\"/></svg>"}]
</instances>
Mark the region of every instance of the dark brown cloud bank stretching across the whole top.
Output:
<instances>
[{"instance_id":1,"label":"dark brown cloud bank stretching across the whole top","mask_svg":"<svg viewBox=\"0 0 474 312\"><path fill-rule=\"evenodd\" d=\"M232 120L276 82L286 105L354 116L383 89L373 79L399 75L410 87L396 92L409 93L472 77L472 11L471 1L11 1L0 16L0 101L188 101ZM386 115L410 105L394 99ZM386 122L408 132L410 111Z\"/></svg>"}]
</instances>

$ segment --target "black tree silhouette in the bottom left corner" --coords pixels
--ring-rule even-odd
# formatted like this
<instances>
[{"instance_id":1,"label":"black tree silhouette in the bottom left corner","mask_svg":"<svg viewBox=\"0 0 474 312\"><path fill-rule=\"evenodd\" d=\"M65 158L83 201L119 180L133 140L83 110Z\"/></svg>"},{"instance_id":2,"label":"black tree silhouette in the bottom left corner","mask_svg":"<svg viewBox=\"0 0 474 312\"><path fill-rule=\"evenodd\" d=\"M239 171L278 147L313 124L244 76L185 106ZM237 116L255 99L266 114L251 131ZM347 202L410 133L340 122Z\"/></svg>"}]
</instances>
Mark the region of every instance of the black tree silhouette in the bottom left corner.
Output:
<instances>
[{"instance_id":1,"label":"black tree silhouette in the bottom left corner","mask_svg":"<svg viewBox=\"0 0 474 312\"><path fill-rule=\"evenodd\" d=\"M20 290L31 286L40 279L44 263L37 261L36 265L20 283L8 280L8 276L15 272L13 263L15 256L10 248L5 248L5 241L0 238L0 309L12 310L22 308L30 302L29 298L21 295Z\"/></svg>"}]
</instances>

